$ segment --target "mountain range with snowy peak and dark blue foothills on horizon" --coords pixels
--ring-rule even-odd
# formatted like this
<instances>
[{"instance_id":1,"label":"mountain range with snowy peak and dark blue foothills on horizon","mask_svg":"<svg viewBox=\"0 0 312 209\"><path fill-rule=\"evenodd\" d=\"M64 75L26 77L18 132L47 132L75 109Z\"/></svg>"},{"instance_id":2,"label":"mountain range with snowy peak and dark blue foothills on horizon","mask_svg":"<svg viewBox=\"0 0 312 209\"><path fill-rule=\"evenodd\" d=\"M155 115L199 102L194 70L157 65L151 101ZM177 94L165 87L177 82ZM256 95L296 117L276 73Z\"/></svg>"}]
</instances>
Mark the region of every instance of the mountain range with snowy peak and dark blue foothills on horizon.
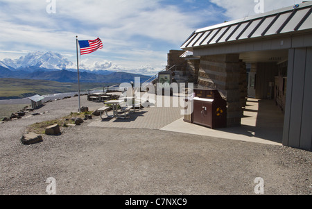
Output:
<instances>
[{"instance_id":1,"label":"mountain range with snowy peak and dark blue foothills on horizon","mask_svg":"<svg viewBox=\"0 0 312 209\"><path fill-rule=\"evenodd\" d=\"M7 58L0 61L0 78L76 83L78 81L77 69L72 69L72 67L73 63L60 53L36 51L15 60ZM135 81L135 77L140 77L141 82L150 78L149 76L127 72L80 69L79 80L82 83L129 83Z\"/></svg>"}]
</instances>

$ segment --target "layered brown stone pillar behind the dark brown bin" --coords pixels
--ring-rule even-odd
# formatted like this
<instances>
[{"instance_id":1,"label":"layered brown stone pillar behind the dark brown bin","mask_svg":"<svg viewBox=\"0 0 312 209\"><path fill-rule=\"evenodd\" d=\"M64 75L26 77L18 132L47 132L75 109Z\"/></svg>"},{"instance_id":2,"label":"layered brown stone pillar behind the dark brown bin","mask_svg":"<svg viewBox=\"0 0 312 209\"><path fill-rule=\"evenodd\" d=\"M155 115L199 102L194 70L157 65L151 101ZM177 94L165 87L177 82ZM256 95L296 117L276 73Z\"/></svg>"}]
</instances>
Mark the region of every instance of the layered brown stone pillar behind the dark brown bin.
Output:
<instances>
[{"instance_id":1,"label":"layered brown stone pillar behind the dark brown bin","mask_svg":"<svg viewBox=\"0 0 312 209\"><path fill-rule=\"evenodd\" d=\"M227 101L227 127L241 126L243 116L241 74L245 65L239 54L202 56L198 72L199 88L214 88Z\"/></svg>"}]
</instances>

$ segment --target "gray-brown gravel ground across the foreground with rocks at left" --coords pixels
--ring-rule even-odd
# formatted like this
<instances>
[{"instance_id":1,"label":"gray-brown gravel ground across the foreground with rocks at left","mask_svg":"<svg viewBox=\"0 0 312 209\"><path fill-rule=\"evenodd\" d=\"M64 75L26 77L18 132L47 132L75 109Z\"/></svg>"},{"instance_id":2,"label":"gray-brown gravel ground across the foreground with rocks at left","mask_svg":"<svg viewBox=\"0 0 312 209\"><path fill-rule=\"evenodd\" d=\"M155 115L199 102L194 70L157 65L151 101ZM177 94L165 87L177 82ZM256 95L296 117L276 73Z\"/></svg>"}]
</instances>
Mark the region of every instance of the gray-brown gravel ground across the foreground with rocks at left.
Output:
<instances>
[{"instance_id":1,"label":"gray-brown gravel ground across the foreground with rocks at left","mask_svg":"<svg viewBox=\"0 0 312 209\"><path fill-rule=\"evenodd\" d=\"M23 145L26 126L77 111L78 99L46 103L44 113L0 124L0 194L209 195L312 194L311 151L149 129L62 128ZM87 101L89 110L102 107Z\"/></svg>"}]
</instances>

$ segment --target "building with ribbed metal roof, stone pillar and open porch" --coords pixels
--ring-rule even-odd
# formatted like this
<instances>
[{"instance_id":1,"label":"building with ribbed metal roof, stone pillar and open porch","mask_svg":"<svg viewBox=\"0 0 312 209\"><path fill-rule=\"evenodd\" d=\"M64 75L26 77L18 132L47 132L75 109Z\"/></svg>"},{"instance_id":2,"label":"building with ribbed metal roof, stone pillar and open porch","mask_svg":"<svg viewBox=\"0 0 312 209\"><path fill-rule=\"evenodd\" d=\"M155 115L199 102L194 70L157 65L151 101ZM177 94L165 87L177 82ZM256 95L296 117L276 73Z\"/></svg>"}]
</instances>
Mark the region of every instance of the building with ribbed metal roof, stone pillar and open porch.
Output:
<instances>
[{"instance_id":1,"label":"building with ribbed metal roof, stone pillar and open porch","mask_svg":"<svg viewBox=\"0 0 312 209\"><path fill-rule=\"evenodd\" d=\"M182 50L191 51L185 59L196 63L198 88L216 89L227 101L227 127L246 127L241 118L246 93L274 97L284 111L282 144L312 149L311 14L312 1L307 1L199 28L182 44ZM261 106L262 101L259 116ZM251 132L259 135L257 129Z\"/></svg>"}]
</instances>

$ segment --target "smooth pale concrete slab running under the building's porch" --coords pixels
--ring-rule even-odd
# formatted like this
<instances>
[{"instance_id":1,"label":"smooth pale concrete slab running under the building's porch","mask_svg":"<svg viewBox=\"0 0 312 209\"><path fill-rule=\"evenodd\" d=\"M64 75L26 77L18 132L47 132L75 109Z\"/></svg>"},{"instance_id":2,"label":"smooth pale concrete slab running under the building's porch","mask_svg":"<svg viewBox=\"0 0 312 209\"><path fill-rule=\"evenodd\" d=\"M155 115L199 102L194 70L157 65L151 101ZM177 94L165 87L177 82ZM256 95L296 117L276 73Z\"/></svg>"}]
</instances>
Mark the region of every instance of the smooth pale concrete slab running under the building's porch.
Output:
<instances>
[{"instance_id":1,"label":"smooth pale concrete slab running under the building's porch","mask_svg":"<svg viewBox=\"0 0 312 209\"><path fill-rule=\"evenodd\" d=\"M281 145L284 125L284 115L281 110L272 100L248 99L247 105L240 127L213 130L184 122L182 117L160 130Z\"/></svg>"}]
</instances>

